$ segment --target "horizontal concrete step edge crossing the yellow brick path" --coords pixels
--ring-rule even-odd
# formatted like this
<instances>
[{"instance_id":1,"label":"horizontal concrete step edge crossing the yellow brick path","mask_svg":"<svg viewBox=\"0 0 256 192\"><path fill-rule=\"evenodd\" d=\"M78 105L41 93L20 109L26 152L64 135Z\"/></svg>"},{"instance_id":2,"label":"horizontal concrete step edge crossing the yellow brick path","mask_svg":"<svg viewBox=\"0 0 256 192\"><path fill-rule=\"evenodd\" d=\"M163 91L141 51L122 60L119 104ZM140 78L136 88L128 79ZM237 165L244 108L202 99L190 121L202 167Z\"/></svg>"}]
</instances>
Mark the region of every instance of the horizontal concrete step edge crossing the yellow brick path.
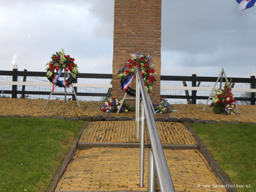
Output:
<instances>
[{"instance_id":1,"label":"horizontal concrete step edge crossing the yellow brick path","mask_svg":"<svg viewBox=\"0 0 256 192\"><path fill-rule=\"evenodd\" d=\"M121 143L121 142L80 142L78 143L78 149L89 149L96 147L110 147L110 148L140 148L140 142L138 143ZM163 149L198 149L196 144L162 144ZM145 148L151 148L150 143L145 143Z\"/></svg>"}]
</instances>

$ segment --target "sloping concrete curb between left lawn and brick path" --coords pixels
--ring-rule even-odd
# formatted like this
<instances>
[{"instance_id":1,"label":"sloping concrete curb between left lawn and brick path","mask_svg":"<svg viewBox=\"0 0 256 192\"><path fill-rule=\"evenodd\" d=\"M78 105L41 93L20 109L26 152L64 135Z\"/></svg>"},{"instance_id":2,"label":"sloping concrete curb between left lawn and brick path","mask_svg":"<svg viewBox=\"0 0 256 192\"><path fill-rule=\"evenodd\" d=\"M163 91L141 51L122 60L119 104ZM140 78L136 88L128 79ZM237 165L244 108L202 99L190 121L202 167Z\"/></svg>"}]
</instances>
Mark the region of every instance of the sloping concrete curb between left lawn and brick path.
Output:
<instances>
[{"instance_id":1,"label":"sloping concrete curb between left lawn and brick path","mask_svg":"<svg viewBox=\"0 0 256 192\"><path fill-rule=\"evenodd\" d=\"M68 150L68 153L65 155L64 159L62 160L61 164L60 164L60 168L57 170L57 172L54 174L51 184L49 186L49 188L45 191L45 192L54 192L60 178L62 177L62 175L64 174L64 172L66 171L66 168L68 166L68 164L70 163L70 161L73 159L73 157L75 156L76 153L76 149L78 146L78 141L82 135L82 133L84 132L85 127L87 126L89 122L86 122L84 124L84 127L80 130L80 132L78 133L78 137L72 142L72 144L70 145L70 148Z\"/></svg>"}]
</instances>

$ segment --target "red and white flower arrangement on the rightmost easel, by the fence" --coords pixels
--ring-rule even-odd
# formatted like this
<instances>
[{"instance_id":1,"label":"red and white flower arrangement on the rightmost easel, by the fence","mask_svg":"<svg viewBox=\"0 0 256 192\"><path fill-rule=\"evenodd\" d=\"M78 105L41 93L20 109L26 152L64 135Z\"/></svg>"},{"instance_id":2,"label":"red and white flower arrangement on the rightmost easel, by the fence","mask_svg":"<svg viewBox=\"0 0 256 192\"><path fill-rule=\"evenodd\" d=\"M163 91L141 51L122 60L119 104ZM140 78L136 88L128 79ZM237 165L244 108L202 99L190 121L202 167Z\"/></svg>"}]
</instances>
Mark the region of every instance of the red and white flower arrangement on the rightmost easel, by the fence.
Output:
<instances>
[{"instance_id":1,"label":"red and white flower arrangement on the rightmost easel, by the fence","mask_svg":"<svg viewBox=\"0 0 256 192\"><path fill-rule=\"evenodd\" d=\"M216 114L234 114L234 107L236 107L236 100L233 99L231 91L231 81L226 82L223 89L216 89L212 94L212 111Z\"/></svg>"}]
</instances>

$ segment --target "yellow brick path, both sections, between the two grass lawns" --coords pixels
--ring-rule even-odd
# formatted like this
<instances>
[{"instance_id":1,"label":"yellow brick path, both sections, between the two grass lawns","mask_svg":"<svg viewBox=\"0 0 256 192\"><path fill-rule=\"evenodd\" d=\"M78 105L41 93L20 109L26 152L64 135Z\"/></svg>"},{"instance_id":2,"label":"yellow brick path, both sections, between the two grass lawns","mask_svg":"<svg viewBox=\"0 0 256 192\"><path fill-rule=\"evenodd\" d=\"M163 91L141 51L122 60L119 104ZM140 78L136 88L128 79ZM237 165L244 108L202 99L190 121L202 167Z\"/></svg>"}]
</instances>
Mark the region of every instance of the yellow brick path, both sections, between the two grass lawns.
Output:
<instances>
[{"instance_id":1,"label":"yellow brick path, both sections, between the two grass lawns","mask_svg":"<svg viewBox=\"0 0 256 192\"><path fill-rule=\"evenodd\" d=\"M182 123L156 122L161 141L172 144L196 144ZM79 143L138 142L134 121L90 122ZM145 133L146 142L149 141ZM79 146L78 143L78 146ZM144 186L139 187L140 148L77 149L76 155L60 179L56 192L67 191L147 191L148 148L145 148ZM175 191L226 191L225 188L203 188L220 181L198 149L164 149Z\"/></svg>"}]
</instances>

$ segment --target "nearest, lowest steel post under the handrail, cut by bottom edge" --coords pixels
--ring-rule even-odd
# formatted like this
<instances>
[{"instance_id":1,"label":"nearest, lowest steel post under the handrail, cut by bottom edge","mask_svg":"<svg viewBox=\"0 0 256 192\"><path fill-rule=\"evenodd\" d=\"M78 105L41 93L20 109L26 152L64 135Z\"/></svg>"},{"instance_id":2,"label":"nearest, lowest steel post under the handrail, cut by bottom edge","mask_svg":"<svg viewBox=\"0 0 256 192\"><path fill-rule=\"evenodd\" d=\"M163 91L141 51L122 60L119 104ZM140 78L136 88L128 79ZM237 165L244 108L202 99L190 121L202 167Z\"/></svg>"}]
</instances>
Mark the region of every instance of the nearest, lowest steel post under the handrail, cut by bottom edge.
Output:
<instances>
[{"instance_id":1,"label":"nearest, lowest steel post under the handrail, cut by bottom edge","mask_svg":"<svg viewBox=\"0 0 256 192\"><path fill-rule=\"evenodd\" d=\"M152 151L148 151L148 192L156 191L156 171Z\"/></svg>"}]
</instances>

